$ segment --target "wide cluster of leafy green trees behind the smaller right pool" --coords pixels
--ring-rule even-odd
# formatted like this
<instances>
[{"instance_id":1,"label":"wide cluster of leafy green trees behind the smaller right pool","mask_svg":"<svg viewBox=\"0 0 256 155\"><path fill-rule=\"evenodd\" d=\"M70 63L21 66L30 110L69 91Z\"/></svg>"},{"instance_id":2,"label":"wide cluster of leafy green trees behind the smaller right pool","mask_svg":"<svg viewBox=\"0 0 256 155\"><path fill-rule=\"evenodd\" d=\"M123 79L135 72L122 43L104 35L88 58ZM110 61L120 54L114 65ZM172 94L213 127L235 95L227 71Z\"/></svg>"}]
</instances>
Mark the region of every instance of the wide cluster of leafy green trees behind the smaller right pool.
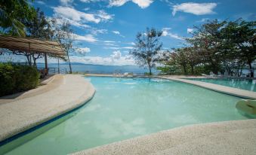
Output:
<instances>
[{"instance_id":1,"label":"wide cluster of leafy green trees behind the smaller right pool","mask_svg":"<svg viewBox=\"0 0 256 155\"><path fill-rule=\"evenodd\" d=\"M227 71L240 76L242 68L256 59L256 22L236 20L212 20L202 26L195 26L192 38L186 38L190 46L174 49L161 69L169 70L178 66L183 74L209 74ZM251 77L253 72L251 69Z\"/></svg>"}]
</instances>

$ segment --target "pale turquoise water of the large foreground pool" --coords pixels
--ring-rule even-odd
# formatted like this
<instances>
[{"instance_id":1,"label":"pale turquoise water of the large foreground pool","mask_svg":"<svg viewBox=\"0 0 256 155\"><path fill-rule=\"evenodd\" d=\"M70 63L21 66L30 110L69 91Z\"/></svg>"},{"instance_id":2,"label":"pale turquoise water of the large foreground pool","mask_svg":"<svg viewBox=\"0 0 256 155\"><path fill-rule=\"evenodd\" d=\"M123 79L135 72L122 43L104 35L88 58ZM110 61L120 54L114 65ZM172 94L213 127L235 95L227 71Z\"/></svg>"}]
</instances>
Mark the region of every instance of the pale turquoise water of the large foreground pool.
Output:
<instances>
[{"instance_id":1,"label":"pale turquoise water of the large foreground pool","mask_svg":"<svg viewBox=\"0 0 256 155\"><path fill-rule=\"evenodd\" d=\"M37 129L6 144L8 148L26 141L7 154L73 153L177 126L248 119L236 111L240 98L190 84L144 78L85 80L96 89L94 99L69 119L48 124L51 129ZM40 135L29 140L36 133Z\"/></svg>"}]
</instances>

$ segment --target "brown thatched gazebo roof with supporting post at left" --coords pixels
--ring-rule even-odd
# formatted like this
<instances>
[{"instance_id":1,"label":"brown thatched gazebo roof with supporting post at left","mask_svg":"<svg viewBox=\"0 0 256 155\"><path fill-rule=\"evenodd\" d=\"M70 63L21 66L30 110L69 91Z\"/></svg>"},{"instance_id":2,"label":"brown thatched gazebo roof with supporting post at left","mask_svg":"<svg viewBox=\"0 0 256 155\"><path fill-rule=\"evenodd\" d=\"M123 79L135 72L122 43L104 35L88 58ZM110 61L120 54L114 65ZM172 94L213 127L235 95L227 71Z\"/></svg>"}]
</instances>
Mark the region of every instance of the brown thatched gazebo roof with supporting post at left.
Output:
<instances>
[{"instance_id":1,"label":"brown thatched gazebo roof with supporting post at left","mask_svg":"<svg viewBox=\"0 0 256 155\"><path fill-rule=\"evenodd\" d=\"M58 41L47 41L39 38L0 35L0 48L26 51L28 53L44 53L46 69L48 68L47 54L64 56L64 50Z\"/></svg>"}]
</instances>

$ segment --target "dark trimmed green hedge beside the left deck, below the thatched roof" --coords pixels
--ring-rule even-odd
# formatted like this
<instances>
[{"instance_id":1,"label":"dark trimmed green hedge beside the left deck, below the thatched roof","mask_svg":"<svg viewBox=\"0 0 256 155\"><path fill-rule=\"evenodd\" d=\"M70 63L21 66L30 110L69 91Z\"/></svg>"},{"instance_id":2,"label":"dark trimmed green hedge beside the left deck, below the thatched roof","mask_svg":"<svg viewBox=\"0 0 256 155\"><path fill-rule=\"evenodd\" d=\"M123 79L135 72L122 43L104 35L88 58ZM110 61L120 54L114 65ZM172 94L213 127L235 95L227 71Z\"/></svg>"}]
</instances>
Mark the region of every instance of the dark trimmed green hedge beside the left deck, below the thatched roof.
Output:
<instances>
[{"instance_id":1,"label":"dark trimmed green hedge beside the left deck, below the thatched roof","mask_svg":"<svg viewBox=\"0 0 256 155\"><path fill-rule=\"evenodd\" d=\"M39 85L39 72L28 65L0 63L0 96L31 90Z\"/></svg>"}]
</instances>

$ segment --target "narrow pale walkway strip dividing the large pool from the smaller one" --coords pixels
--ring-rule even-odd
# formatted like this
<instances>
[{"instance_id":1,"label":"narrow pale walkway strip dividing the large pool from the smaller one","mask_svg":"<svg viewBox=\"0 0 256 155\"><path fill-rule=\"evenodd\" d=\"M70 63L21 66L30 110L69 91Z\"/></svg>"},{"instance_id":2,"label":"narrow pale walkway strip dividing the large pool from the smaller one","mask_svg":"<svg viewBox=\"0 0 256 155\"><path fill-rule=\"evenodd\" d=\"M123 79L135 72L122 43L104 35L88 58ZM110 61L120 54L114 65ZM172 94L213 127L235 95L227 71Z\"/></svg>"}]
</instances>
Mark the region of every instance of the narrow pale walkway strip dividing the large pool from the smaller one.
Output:
<instances>
[{"instance_id":1,"label":"narrow pale walkway strip dividing the large pool from the smaller one","mask_svg":"<svg viewBox=\"0 0 256 155\"><path fill-rule=\"evenodd\" d=\"M233 96L239 96L245 99L256 99L256 92L252 92L252 91L248 91L248 90L240 90L237 88L233 88L233 87L226 87L226 86L221 86L218 84L210 84L210 83L206 83L206 82L201 82L201 81L192 81L192 80L186 80L186 79L181 79L181 78L173 78L173 77L164 77L164 76L159 76L159 78L165 78L168 80L172 80L172 81L180 81L180 82L184 82L187 84L193 84L199 87L204 87L208 90L214 90L217 92L221 92L221 93L227 93Z\"/></svg>"}]
</instances>

